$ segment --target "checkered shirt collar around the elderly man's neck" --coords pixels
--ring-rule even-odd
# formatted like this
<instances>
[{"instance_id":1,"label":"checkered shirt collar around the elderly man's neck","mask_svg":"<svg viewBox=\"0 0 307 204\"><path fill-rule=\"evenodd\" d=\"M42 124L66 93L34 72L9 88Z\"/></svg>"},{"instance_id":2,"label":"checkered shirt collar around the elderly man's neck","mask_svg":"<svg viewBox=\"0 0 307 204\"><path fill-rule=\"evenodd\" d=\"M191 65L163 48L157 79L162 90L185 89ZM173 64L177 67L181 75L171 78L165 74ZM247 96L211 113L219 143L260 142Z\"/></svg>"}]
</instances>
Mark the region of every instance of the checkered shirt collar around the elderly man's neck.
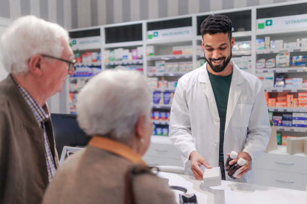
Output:
<instances>
[{"instance_id":1,"label":"checkered shirt collar around the elderly man's neck","mask_svg":"<svg viewBox=\"0 0 307 204\"><path fill-rule=\"evenodd\" d=\"M38 124L40 125L43 122L46 122L49 119L49 109L48 109L48 105L47 103L45 105L43 105L42 107L39 106L36 101L31 97L31 95L26 91L26 89L24 87L22 87L15 79L14 77L11 75L13 81L15 82L15 84L18 87L19 92L21 93L21 95L23 95L23 97L25 98L25 100L27 101L27 104L30 106L36 121L38 122Z\"/></svg>"}]
</instances>

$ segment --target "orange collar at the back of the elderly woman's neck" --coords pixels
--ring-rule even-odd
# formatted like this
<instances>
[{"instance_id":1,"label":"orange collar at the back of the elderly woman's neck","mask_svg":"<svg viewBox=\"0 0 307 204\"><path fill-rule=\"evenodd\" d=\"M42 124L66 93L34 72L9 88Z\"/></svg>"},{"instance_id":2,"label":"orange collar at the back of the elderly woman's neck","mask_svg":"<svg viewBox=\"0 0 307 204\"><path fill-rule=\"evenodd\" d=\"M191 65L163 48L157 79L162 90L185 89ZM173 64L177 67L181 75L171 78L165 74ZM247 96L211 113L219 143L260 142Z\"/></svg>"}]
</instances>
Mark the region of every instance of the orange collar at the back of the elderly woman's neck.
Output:
<instances>
[{"instance_id":1,"label":"orange collar at the back of the elderly woman's neck","mask_svg":"<svg viewBox=\"0 0 307 204\"><path fill-rule=\"evenodd\" d=\"M141 156L137 152L135 152L127 145L124 145L115 140L95 135L93 139L89 142L89 145L111 152L134 164L142 164L147 166L147 164L142 160Z\"/></svg>"}]
</instances>

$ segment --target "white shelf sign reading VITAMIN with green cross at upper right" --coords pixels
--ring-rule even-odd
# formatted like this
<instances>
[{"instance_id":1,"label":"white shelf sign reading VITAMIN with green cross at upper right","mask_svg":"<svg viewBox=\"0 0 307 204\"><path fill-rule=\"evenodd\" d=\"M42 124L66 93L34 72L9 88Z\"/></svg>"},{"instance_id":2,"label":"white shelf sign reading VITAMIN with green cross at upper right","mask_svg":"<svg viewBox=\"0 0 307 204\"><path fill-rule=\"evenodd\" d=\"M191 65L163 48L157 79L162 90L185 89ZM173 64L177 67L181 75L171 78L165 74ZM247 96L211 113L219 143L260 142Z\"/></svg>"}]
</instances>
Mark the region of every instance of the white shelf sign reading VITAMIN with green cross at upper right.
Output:
<instances>
[{"instance_id":1,"label":"white shelf sign reading VITAMIN with green cross at upper right","mask_svg":"<svg viewBox=\"0 0 307 204\"><path fill-rule=\"evenodd\" d=\"M257 30L307 27L307 14L257 19Z\"/></svg>"}]
</instances>

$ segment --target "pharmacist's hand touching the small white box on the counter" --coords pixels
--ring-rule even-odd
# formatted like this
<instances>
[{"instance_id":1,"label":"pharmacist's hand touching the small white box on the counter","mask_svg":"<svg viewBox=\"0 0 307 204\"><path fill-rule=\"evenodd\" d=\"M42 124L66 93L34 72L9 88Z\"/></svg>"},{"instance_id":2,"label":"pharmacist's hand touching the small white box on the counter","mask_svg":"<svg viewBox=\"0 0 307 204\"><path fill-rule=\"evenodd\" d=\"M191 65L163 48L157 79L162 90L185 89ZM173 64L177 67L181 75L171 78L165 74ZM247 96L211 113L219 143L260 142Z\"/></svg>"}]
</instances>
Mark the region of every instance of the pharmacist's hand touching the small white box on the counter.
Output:
<instances>
[{"instance_id":1,"label":"pharmacist's hand touching the small white box on the counter","mask_svg":"<svg viewBox=\"0 0 307 204\"><path fill-rule=\"evenodd\" d=\"M204 172L201 169L201 165L211 169L212 166L207 163L206 159L197 151L192 151L190 154L191 170L196 180L203 181Z\"/></svg>"}]
</instances>

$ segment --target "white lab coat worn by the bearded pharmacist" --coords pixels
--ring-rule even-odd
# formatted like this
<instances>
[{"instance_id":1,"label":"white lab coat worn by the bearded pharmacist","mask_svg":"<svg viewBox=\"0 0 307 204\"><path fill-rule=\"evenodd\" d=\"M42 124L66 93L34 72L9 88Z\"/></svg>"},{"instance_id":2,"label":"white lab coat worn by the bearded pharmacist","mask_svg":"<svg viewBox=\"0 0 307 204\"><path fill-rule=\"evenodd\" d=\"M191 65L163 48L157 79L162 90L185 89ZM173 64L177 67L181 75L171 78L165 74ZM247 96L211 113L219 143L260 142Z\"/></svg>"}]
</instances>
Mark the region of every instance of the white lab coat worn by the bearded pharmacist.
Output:
<instances>
[{"instance_id":1,"label":"white lab coat worn by the bearded pharmacist","mask_svg":"<svg viewBox=\"0 0 307 204\"><path fill-rule=\"evenodd\" d=\"M240 70L232 60L230 63L233 74L226 113L224 163L231 151L246 151L252 162L244 176L233 180L226 172L226 180L254 184L253 161L266 149L271 135L265 92L258 78ZM207 63L178 81L170 111L169 138L181 151L186 171L190 171L188 158L194 150L212 167L218 166L220 117L206 67Z\"/></svg>"}]
</instances>

